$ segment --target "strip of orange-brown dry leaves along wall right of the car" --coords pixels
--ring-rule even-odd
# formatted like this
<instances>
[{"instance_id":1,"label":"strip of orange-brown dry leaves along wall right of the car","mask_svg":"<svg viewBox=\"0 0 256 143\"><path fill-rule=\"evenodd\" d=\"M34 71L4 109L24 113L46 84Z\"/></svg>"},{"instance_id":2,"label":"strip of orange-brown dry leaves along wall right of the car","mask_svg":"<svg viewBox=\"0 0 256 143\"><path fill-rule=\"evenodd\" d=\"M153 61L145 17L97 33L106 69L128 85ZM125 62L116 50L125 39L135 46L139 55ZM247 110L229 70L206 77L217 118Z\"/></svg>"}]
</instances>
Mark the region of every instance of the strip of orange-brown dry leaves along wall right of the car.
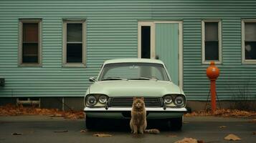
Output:
<instances>
[{"instance_id":1,"label":"strip of orange-brown dry leaves along wall right of the car","mask_svg":"<svg viewBox=\"0 0 256 143\"><path fill-rule=\"evenodd\" d=\"M186 117L196 116L221 116L221 117L255 117L256 112L247 112L237 109L217 109L214 113L211 111L201 110L185 114Z\"/></svg>"}]
</instances>

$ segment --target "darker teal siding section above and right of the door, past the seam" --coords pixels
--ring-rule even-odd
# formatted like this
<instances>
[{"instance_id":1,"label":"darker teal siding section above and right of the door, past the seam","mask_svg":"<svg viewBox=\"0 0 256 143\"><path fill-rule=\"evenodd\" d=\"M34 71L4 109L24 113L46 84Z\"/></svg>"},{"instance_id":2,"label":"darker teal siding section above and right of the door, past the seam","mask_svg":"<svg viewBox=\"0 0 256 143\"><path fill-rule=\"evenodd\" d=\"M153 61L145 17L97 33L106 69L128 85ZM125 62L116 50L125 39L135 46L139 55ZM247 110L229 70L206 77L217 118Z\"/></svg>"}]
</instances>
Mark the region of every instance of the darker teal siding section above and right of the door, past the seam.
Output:
<instances>
[{"instance_id":1,"label":"darker teal siding section above and right of the door, past the seam","mask_svg":"<svg viewBox=\"0 0 256 143\"><path fill-rule=\"evenodd\" d=\"M184 92L189 100L207 100L209 94L209 65L202 64L202 19L222 22L218 98L256 99L256 64L242 64L241 54L241 19L256 19L256 1L156 1L153 5L153 19L184 21Z\"/></svg>"}]
</instances>

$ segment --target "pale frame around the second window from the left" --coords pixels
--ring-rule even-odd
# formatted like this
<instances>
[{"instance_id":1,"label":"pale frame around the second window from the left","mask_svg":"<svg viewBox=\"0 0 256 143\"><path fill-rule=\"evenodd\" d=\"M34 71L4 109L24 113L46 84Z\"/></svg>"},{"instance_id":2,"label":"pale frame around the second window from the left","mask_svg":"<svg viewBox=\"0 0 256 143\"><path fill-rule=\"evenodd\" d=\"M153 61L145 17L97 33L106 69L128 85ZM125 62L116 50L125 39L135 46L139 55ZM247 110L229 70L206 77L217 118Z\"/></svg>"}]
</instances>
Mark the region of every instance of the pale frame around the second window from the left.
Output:
<instances>
[{"instance_id":1,"label":"pale frame around the second window from the left","mask_svg":"<svg viewBox=\"0 0 256 143\"><path fill-rule=\"evenodd\" d=\"M82 62L67 63L67 24L82 24ZM62 66L84 67L86 64L86 21L85 19L63 19Z\"/></svg>"}]
</instances>

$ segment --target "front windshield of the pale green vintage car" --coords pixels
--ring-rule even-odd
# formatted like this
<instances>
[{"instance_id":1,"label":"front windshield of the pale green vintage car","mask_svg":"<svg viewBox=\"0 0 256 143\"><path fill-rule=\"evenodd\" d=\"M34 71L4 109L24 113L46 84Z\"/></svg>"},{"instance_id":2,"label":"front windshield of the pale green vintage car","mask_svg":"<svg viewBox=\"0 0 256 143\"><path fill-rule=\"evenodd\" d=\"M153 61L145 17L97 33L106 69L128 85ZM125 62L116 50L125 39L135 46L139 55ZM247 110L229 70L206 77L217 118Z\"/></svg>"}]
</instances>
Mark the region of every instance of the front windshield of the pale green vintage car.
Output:
<instances>
[{"instance_id":1,"label":"front windshield of the pale green vintage car","mask_svg":"<svg viewBox=\"0 0 256 143\"><path fill-rule=\"evenodd\" d=\"M103 80L161 80L169 81L163 64L116 63L105 64L98 81Z\"/></svg>"}]
</instances>

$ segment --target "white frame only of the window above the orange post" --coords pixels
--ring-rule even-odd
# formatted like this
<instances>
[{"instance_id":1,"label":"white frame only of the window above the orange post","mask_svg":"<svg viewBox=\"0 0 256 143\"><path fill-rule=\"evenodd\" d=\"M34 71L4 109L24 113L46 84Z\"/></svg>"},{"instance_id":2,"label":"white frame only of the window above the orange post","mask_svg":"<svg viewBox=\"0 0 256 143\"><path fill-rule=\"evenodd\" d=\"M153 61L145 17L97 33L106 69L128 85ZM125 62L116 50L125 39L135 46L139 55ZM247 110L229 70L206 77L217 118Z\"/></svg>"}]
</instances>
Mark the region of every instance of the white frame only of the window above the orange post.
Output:
<instances>
[{"instance_id":1,"label":"white frame only of the window above the orange post","mask_svg":"<svg viewBox=\"0 0 256 143\"><path fill-rule=\"evenodd\" d=\"M222 64L222 21L220 19L202 20L202 64L210 64L211 61L205 60L205 23L218 22L218 41L219 41L219 60L214 61L215 64Z\"/></svg>"}]
</instances>

